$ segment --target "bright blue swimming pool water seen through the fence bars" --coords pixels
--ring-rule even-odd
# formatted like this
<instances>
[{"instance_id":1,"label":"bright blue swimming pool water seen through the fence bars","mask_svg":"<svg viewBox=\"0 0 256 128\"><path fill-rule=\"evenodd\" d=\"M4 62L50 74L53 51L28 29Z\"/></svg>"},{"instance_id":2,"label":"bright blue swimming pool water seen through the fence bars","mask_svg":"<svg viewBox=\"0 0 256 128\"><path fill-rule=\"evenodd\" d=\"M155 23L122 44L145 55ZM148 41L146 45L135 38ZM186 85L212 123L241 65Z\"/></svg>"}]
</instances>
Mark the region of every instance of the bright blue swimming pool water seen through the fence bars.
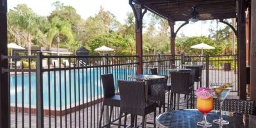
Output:
<instances>
[{"instance_id":1,"label":"bright blue swimming pool water seen through the fence bars","mask_svg":"<svg viewBox=\"0 0 256 128\"><path fill-rule=\"evenodd\" d=\"M82 69L80 71L72 70L71 79L69 78L69 71L66 71L66 79L64 79L64 71L61 71L61 82L59 71L56 71L56 92L54 91L54 72L50 72L50 79L48 79L48 72L43 73L43 104L44 107L49 106L49 94L51 107L54 107L54 93L56 93L56 107L64 107L65 106L65 91L66 91L66 99L67 99L67 107L69 104L74 104L75 102L75 88L76 88L76 103L82 104L82 97L84 97L84 102L90 102L97 97L101 97L103 94L102 84L101 84L101 74L103 74L103 70L101 69L83 69L84 75L82 75ZM134 74L134 71L130 71L128 69L117 69L110 70L114 76L118 76L117 79L127 79L129 74ZM87 74L86 74L87 72ZM79 73L79 75L78 75ZM76 77L76 79L74 78ZM78 79L80 78L80 81ZM84 82L82 79L84 78ZM74 81L75 80L75 81ZM11 106L15 105L15 76L10 76L10 102ZM48 83L48 81L50 83ZM66 82L66 90L65 90L65 82ZM71 82L71 84L70 84ZM80 83L80 84L78 84ZM49 93L49 84L50 84L50 93ZM61 85L60 85L61 84ZM116 85L116 84L115 84ZM82 87L84 86L84 95L82 93ZM29 106L29 74L24 74L24 106ZM61 88L61 89L60 89ZM70 89L71 88L71 89ZM70 93L71 92L71 93ZM80 92L80 96L79 96ZM61 93L61 99L60 99ZM71 101L70 101L71 95ZM17 104L21 106L22 104L22 76L21 74L17 75ZM60 105L61 104L61 105ZM36 74L31 74L31 106L36 107Z\"/></svg>"}]
</instances>

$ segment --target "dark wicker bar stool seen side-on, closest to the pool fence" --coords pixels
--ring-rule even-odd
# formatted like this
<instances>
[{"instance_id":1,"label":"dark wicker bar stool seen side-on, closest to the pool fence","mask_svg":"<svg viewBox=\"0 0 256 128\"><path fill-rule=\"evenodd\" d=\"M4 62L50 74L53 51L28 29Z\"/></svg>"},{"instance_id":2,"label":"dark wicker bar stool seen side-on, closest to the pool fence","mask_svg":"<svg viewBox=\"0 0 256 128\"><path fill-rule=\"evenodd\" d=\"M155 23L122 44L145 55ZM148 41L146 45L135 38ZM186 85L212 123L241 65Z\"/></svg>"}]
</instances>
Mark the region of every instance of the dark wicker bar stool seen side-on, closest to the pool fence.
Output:
<instances>
[{"instance_id":1,"label":"dark wicker bar stool seen side-on, closest to the pool fence","mask_svg":"<svg viewBox=\"0 0 256 128\"><path fill-rule=\"evenodd\" d=\"M103 74L101 75L101 80L102 80L102 86L104 90L104 98L103 98L103 104L101 108L101 117L99 120L99 127L101 127L102 116L103 116L105 106L111 106L109 124L106 124L105 126L114 124L111 122L113 107L120 107L120 96L115 94L113 74ZM117 125L117 124L114 124L114 125Z\"/></svg>"}]
</instances>

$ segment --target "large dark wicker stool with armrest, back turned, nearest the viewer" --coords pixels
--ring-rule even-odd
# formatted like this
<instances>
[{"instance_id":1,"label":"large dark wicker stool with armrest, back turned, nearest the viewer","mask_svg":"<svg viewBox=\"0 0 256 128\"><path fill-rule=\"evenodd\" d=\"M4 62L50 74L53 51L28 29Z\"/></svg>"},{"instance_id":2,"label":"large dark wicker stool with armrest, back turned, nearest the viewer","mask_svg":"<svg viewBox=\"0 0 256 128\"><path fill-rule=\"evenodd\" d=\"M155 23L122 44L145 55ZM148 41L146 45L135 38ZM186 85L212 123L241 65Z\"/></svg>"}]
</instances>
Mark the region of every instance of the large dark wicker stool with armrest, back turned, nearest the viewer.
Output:
<instances>
[{"instance_id":1,"label":"large dark wicker stool with armrest, back turned, nearest the viewer","mask_svg":"<svg viewBox=\"0 0 256 128\"><path fill-rule=\"evenodd\" d=\"M122 113L132 116L142 116L142 128L145 127L145 116L154 112L154 127L157 104L149 104L145 101L145 82L141 81L117 81L120 91L121 104L119 113L119 128L121 127ZM126 118L124 119L126 126ZM136 124L135 124L136 126Z\"/></svg>"}]
</instances>

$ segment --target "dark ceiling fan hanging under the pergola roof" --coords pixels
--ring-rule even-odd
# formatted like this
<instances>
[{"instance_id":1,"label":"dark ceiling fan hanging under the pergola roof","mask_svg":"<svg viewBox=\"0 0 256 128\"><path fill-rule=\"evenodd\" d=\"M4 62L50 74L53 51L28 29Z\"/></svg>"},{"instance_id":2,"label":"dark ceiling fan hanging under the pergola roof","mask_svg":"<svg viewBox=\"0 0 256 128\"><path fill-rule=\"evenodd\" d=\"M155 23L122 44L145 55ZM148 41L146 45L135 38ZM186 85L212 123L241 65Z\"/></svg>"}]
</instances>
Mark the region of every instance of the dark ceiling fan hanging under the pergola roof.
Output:
<instances>
[{"instance_id":1,"label":"dark ceiling fan hanging under the pergola roof","mask_svg":"<svg viewBox=\"0 0 256 128\"><path fill-rule=\"evenodd\" d=\"M192 22L197 22L199 20L207 20L207 19L213 19L214 17L212 17L212 14L209 13L204 13L204 14L199 14L199 12L197 12L197 6L194 5L192 6L193 11L190 12L189 14L189 21ZM182 14L184 16L188 16L187 14Z\"/></svg>"}]
</instances>

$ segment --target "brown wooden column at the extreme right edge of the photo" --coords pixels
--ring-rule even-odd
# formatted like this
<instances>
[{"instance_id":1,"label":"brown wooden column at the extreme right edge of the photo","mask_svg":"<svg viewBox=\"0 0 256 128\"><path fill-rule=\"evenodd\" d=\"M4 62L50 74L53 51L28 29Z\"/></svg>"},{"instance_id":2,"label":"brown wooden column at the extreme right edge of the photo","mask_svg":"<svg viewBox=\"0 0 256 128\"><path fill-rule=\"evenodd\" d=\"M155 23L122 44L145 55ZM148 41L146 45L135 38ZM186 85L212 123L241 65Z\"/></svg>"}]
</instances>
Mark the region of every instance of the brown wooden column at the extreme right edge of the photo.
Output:
<instances>
[{"instance_id":1,"label":"brown wooden column at the extreme right edge of the photo","mask_svg":"<svg viewBox=\"0 0 256 128\"><path fill-rule=\"evenodd\" d=\"M256 1L251 1L250 100L256 102ZM256 106L255 106L256 107Z\"/></svg>"}]
</instances>

